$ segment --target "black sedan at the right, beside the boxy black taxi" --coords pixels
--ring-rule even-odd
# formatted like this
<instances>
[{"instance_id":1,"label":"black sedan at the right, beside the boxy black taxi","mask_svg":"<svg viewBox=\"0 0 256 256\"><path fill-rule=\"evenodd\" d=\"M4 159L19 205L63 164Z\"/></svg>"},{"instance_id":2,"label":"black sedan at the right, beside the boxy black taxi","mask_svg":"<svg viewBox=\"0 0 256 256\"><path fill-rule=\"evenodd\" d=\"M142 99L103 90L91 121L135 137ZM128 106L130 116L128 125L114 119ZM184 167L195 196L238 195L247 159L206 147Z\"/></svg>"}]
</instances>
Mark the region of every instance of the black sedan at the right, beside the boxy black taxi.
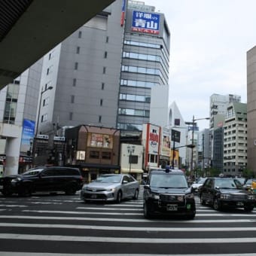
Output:
<instances>
[{"instance_id":1,"label":"black sedan at the right, beside the boxy black taxi","mask_svg":"<svg viewBox=\"0 0 256 256\"><path fill-rule=\"evenodd\" d=\"M255 196L247 191L236 178L207 178L200 188L200 202L209 203L215 210L243 208L246 212L254 209Z\"/></svg>"}]
</instances>

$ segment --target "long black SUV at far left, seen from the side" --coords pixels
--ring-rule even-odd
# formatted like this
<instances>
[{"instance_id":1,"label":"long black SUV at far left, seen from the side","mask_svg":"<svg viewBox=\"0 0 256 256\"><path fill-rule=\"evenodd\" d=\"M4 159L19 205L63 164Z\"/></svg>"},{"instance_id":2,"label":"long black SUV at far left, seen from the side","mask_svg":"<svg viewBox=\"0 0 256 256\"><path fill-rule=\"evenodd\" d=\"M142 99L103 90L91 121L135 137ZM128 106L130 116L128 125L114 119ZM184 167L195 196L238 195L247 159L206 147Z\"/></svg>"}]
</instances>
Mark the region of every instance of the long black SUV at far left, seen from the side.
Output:
<instances>
[{"instance_id":1,"label":"long black SUV at far left, seen from the side","mask_svg":"<svg viewBox=\"0 0 256 256\"><path fill-rule=\"evenodd\" d=\"M34 192L58 192L75 194L81 190L83 177L78 168L60 166L39 166L21 175L0 178L0 191L4 196L17 193L29 196Z\"/></svg>"}]
</instances>

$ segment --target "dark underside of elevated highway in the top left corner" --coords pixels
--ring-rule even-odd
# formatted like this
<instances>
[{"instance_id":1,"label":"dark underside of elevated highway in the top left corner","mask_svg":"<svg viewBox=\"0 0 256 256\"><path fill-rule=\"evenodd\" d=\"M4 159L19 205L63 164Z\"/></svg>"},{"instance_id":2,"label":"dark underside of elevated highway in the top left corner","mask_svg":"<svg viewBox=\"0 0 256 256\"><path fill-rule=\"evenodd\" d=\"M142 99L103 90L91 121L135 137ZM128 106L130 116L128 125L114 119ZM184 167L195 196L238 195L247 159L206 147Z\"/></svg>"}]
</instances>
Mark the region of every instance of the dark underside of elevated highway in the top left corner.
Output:
<instances>
[{"instance_id":1,"label":"dark underside of elevated highway in the top left corner","mask_svg":"<svg viewBox=\"0 0 256 256\"><path fill-rule=\"evenodd\" d=\"M0 0L0 90L115 0Z\"/></svg>"}]
</instances>

